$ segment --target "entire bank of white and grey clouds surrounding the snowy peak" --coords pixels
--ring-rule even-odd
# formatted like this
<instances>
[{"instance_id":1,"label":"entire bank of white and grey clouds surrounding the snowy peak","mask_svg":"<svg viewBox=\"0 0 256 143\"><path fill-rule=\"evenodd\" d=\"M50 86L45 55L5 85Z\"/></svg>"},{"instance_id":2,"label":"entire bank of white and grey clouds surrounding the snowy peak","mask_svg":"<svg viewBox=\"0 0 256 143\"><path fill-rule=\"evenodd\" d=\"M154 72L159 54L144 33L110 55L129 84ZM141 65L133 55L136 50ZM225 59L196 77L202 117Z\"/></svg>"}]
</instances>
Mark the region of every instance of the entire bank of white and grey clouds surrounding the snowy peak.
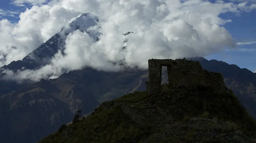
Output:
<instances>
[{"instance_id":1,"label":"entire bank of white and grey clouds surrounding the snowy peak","mask_svg":"<svg viewBox=\"0 0 256 143\"><path fill-rule=\"evenodd\" d=\"M53 0L26 9L17 24L7 19L0 21L0 66L21 60L72 19L88 11L100 15L102 21L98 42L93 42L87 33L75 31L66 39L65 56L57 53L49 65L37 70L17 73L6 70L4 78L38 81L56 78L63 69L85 66L108 71L120 69L109 61L147 68L147 60L151 58L206 56L237 46L223 27L232 19L222 19L219 15L250 12L254 8L251 2L201 0ZM136 34L129 35L126 49L122 50L122 34L129 31Z\"/></svg>"}]
</instances>

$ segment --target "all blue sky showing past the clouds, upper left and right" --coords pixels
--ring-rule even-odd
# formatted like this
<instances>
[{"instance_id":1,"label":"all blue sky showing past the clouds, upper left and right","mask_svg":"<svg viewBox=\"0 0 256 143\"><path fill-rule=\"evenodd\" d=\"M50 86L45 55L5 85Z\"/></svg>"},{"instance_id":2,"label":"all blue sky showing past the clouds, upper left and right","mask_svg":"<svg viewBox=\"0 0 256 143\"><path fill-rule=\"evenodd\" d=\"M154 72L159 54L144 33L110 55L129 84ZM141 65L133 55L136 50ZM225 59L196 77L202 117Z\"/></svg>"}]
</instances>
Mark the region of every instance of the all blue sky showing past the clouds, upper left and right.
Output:
<instances>
[{"instance_id":1,"label":"all blue sky showing past the clouds, upper left and right","mask_svg":"<svg viewBox=\"0 0 256 143\"><path fill-rule=\"evenodd\" d=\"M40 0L39 0L40 1ZM20 6L11 4L12 1L4 0L0 2L0 20L8 19L15 23L19 20L19 14L24 12L26 8L32 7L26 3ZM220 15L223 19L231 19L232 22L226 23L224 27L232 35L236 42L254 42L256 41L256 11L255 9L249 13L225 13ZM226 50L221 53L212 54L205 58L208 60L216 59L225 61L229 64L238 65L241 68L247 68L251 71L256 70L256 44L240 45L236 50Z\"/></svg>"}]
</instances>

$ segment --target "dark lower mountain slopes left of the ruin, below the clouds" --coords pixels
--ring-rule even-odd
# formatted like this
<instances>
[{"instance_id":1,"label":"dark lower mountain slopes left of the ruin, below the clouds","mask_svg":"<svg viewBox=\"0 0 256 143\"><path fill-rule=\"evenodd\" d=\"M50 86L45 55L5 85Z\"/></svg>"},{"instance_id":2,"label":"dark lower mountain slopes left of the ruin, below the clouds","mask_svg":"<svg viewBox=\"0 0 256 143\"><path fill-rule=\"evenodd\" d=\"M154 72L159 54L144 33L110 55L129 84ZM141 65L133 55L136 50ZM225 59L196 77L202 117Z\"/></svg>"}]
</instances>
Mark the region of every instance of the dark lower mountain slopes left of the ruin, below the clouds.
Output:
<instances>
[{"instance_id":1,"label":"dark lower mountain slopes left of the ruin, below the clouds","mask_svg":"<svg viewBox=\"0 0 256 143\"><path fill-rule=\"evenodd\" d=\"M5 130L0 131L1 141L39 141L70 122L78 109L82 109L82 114L93 111L100 104L100 97L128 93L143 72L108 73L86 68L2 95L0 124Z\"/></svg>"}]
</instances>

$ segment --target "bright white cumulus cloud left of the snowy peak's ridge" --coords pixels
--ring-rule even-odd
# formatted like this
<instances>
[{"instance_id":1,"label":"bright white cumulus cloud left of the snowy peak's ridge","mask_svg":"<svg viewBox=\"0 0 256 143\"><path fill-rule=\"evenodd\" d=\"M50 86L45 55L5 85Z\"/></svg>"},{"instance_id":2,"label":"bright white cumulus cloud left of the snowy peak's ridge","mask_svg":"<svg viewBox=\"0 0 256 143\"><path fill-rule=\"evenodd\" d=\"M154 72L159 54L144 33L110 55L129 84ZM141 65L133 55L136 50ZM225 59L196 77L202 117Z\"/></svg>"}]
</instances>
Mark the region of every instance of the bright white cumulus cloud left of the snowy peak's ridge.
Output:
<instances>
[{"instance_id":1,"label":"bright white cumulus cloud left of the snowy peak's ridge","mask_svg":"<svg viewBox=\"0 0 256 143\"><path fill-rule=\"evenodd\" d=\"M59 32L63 23L80 12L62 6L33 6L20 14L18 23L0 21L0 66L21 60L40 44Z\"/></svg>"}]
</instances>

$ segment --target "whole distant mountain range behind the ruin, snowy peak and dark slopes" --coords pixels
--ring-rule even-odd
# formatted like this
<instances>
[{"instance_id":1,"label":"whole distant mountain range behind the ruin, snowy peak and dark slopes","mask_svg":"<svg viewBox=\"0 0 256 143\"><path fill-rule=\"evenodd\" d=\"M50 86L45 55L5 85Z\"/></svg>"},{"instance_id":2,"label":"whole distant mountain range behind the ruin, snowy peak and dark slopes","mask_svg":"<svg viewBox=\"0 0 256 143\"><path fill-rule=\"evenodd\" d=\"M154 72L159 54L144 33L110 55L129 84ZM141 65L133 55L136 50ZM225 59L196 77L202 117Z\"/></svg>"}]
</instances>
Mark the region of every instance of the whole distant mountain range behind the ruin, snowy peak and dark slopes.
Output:
<instances>
[{"instance_id":1,"label":"whole distant mountain range behind the ruin, snowy peak and dark slopes","mask_svg":"<svg viewBox=\"0 0 256 143\"><path fill-rule=\"evenodd\" d=\"M75 30L88 32L95 41L100 33L87 31L99 22L96 15L84 13L63 27L39 48L19 61L0 68L12 71L38 69L49 63L51 57L63 50L66 36ZM124 34L124 47L127 35ZM193 57L208 71L223 73L225 84L241 99L241 103L256 118L256 74L223 61ZM3 74L1 75L3 76ZM112 100L127 93L145 90L148 70L126 68L119 72L98 71L92 68L70 71L56 79L39 82L23 82L0 79L0 142L35 143L53 133L72 120L75 112L93 111L101 102ZM167 83L166 68L163 67L162 83Z\"/></svg>"}]
</instances>

